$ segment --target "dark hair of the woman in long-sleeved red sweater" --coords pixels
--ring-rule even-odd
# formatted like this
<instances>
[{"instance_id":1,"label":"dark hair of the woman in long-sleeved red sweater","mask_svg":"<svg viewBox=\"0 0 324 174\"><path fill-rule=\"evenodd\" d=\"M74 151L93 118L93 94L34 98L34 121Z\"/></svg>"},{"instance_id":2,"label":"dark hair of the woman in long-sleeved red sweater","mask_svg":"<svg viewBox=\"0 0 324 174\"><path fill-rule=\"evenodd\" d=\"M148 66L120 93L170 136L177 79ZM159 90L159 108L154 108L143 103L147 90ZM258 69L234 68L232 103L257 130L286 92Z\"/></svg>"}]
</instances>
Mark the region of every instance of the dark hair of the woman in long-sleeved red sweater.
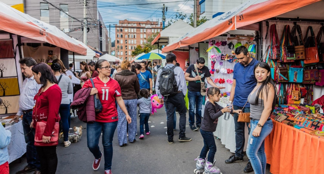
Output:
<instances>
[{"instance_id":1,"label":"dark hair of the woman in long-sleeved red sweater","mask_svg":"<svg viewBox=\"0 0 324 174\"><path fill-rule=\"evenodd\" d=\"M58 83L56 77L54 76L54 73L52 72L51 67L46 63L37 63L31 68L31 71L33 71L36 74L41 73L40 81L42 87L45 87L47 81L56 84Z\"/></svg>"}]
</instances>

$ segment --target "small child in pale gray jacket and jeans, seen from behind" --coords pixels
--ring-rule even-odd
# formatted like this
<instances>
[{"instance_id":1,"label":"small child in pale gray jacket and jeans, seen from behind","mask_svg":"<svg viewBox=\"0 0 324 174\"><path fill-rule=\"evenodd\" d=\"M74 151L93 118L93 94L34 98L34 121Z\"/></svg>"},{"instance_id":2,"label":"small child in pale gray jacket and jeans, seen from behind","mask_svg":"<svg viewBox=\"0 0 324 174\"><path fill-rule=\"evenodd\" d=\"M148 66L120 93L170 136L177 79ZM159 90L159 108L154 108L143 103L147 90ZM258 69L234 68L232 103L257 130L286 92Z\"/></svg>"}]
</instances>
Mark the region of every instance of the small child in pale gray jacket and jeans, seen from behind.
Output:
<instances>
[{"instance_id":1,"label":"small child in pale gray jacket and jeans, seen from behind","mask_svg":"<svg viewBox=\"0 0 324 174\"><path fill-rule=\"evenodd\" d=\"M142 98L137 100L137 104L140 108L140 139L144 138L144 124L145 124L145 132L146 135L150 134L148 127L148 118L150 118L152 112L152 104L151 98L149 97L149 93L146 89L141 89L140 95Z\"/></svg>"}]
</instances>

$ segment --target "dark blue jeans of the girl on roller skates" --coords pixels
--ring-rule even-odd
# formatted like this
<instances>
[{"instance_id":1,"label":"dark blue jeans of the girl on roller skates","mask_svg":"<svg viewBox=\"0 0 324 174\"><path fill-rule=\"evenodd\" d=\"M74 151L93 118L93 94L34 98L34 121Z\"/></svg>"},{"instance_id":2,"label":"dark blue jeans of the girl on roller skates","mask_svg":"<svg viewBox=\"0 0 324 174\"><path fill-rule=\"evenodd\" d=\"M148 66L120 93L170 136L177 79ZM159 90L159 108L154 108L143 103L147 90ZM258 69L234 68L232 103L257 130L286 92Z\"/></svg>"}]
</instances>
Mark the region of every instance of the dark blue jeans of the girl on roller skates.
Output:
<instances>
[{"instance_id":1,"label":"dark blue jeans of the girl on roller skates","mask_svg":"<svg viewBox=\"0 0 324 174\"><path fill-rule=\"evenodd\" d=\"M200 130L200 133L203 136L203 149L200 152L199 158L205 159L209 150L207 161L213 163L216 153L216 143L213 132Z\"/></svg>"}]
</instances>

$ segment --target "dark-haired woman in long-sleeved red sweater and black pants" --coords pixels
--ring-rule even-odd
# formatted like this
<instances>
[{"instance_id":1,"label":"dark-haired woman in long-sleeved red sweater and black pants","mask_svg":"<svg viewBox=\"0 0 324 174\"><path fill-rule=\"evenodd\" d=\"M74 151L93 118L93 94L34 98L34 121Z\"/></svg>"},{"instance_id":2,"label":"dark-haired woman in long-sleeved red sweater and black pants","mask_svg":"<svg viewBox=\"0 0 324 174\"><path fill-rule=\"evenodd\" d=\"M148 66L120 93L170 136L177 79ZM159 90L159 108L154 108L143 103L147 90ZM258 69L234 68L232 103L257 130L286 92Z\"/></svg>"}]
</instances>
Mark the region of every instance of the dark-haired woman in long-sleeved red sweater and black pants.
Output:
<instances>
[{"instance_id":1,"label":"dark-haired woman in long-sleeved red sweater and black pants","mask_svg":"<svg viewBox=\"0 0 324 174\"><path fill-rule=\"evenodd\" d=\"M42 87L34 97L36 104L33 109L33 120L30 127L36 129L38 121L46 121L43 142L50 143L54 124L60 121L59 108L62 92L48 64L37 63L31 70L34 79L38 84L42 84ZM55 173L57 168L56 146L36 146L36 150L41 161L41 173Z\"/></svg>"}]
</instances>

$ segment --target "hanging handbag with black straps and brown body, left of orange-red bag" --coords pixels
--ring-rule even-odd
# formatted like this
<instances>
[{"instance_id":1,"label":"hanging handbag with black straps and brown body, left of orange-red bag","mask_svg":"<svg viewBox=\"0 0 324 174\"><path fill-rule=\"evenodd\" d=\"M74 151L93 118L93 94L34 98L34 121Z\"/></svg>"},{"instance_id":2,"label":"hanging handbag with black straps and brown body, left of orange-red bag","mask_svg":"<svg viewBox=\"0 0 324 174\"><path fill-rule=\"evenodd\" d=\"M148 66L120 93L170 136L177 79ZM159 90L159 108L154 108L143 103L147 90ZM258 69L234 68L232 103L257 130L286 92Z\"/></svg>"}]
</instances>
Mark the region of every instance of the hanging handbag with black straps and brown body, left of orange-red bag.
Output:
<instances>
[{"instance_id":1,"label":"hanging handbag with black straps and brown body, left of orange-red bag","mask_svg":"<svg viewBox=\"0 0 324 174\"><path fill-rule=\"evenodd\" d=\"M298 33L298 37L296 36L296 32ZM295 49L295 59L296 60L304 60L305 59L305 44L303 40L302 29L300 25L296 24L293 26L291 30L292 41ZM299 38L299 42L298 42Z\"/></svg>"}]
</instances>

